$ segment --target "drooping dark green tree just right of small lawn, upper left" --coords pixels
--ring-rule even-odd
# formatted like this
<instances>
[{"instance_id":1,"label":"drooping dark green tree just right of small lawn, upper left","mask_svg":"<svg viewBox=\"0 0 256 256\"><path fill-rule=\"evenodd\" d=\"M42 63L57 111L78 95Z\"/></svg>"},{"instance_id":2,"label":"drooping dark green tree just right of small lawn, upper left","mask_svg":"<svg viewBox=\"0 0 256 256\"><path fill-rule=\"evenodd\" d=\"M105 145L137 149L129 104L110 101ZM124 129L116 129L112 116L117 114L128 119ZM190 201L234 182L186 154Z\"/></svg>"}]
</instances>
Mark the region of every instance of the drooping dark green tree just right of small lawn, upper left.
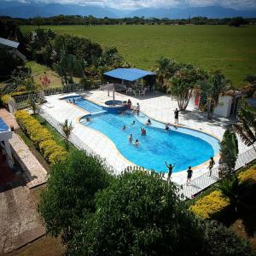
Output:
<instances>
[{"instance_id":1,"label":"drooping dark green tree just right of small lawn, upper left","mask_svg":"<svg viewBox=\"0 0 256 256\"><path fill-rule=\"evenodd\" d=\"M54 63L53 68L64 79L65 84L73 84L73 75L76 73L79 76L83 75L83 65L74 55L61 56L59 63Z\"/></svg>"}]
</instances>

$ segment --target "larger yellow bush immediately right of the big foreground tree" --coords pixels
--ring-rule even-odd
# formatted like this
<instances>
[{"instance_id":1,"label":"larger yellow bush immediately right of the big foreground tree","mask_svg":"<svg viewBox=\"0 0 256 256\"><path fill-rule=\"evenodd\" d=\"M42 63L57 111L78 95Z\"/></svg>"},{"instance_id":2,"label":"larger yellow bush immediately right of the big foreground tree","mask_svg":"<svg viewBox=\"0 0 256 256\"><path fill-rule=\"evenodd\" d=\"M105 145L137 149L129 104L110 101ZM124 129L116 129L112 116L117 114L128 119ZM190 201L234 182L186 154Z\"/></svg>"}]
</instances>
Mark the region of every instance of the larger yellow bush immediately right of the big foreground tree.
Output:
<instances>
[{"instance_id":1,"label":"larger yellow bush immediately right of the big foreground tree","mask_svg":"<svg viewBox=\"0 0 256 256\"><path fill-rule=\"evenodd\" d=\"M213 191L195 202L189 210L200 218L216 218L230 206L230 200L220 192Z\"/></svg>"}]
</instances>

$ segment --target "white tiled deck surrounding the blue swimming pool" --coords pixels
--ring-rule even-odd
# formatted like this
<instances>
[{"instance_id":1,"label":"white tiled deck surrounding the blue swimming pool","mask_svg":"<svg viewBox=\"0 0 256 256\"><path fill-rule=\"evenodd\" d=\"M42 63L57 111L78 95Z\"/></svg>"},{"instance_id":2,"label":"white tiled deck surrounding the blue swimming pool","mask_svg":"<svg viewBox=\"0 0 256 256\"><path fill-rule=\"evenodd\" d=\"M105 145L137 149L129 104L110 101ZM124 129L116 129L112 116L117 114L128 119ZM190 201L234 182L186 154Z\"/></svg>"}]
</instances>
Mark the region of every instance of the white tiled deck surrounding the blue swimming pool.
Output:
<instances>
[{"instance_id":1,"label":"white tiled deck surrounding the blue swimming pool","mask_svg":"<svg viewBox=\"0 0 256 256\"><path fill-rule=\"evenodd\" d=\"M41 115L50 121L57 130L60 131L58 123L63 123L65 119L73 122L73 134L71 140L73 143L84 148L85 150L99 154L103 159L106 159L110 166L113 166L115 173L122 172L125 167L131 166L132 163L126 160L122 154L119 153L114 143L105 135L99 131L95 131L89 127L81 125L79 119L88 114L73 103L61 101L60 98L64 96L78 95L75 93L62 94L55 96L46 96L47 103L41 106ZM108 92L102 90L90 90L86 92L79 92L79 95L103 105L104 102L113 98L112 93L108 96ZM136 105L137 102L141 105L141 111L148 115L151 119L156 119L163 123L174 123L174 110L177 108L176 100L171 96L160 92L154 92L148 96L126 96L124 94L115 93L115 100L127 101L131 99L132 105ZM185 128L195 129L197 131L204 131L213 137L222 139L225 129L230 126L234 120L215 118L212 121L207 119L206 113L201 113L193 109L190 105L186 112L179 114L179 125ZM239 143L239 153L245 152L248 148L241 140ZM188 152L189 154L189 152ZM215 156L216 162L218 161L218 155ZM193 178L199 177L202 174L208 172L208 162L201 164L200 166L193 167ZM166 170L167 172L167 170ZM186 183L187 172L174 172L172 173L172 181L177 184Z\"/></svg>"}]
</instances>

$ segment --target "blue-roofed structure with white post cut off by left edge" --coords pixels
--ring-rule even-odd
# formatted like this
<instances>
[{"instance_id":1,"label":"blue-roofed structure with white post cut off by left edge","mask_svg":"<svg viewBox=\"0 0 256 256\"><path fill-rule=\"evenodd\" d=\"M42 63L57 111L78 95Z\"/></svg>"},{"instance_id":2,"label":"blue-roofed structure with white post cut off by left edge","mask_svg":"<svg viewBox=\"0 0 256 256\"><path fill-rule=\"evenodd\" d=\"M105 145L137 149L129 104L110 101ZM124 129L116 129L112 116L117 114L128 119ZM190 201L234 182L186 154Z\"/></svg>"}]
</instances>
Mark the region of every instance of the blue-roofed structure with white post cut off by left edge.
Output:
<instances>
[{"instance_id":1,"label":"blue-roofed structure with white post cut off by left edge","mask_svg":"<svg viewBox=\"0 0 256 256\"><path fill-rule=\"evenodd\" d=\"M14 160L13 160L10 145L9 145L9 139L11 137L12 137L12 131L10 131L9 126L5 124L3 119L0 118L0 147L2 147L4 152L6 153L9 166L13 168Z\"/></svg>"}]
</instances>

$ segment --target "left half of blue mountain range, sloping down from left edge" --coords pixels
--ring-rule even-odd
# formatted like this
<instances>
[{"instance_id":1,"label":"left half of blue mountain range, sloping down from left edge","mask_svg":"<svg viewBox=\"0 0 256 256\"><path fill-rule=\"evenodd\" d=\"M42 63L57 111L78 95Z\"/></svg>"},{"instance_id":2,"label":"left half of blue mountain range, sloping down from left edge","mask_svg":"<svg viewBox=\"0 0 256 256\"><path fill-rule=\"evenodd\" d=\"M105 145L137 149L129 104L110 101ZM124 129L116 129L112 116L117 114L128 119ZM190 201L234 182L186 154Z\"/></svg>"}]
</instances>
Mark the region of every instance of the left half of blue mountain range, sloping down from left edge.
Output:
<instances>
[{"instance_id":1,"label":"left half of blue mountain range, sloping down from left edge","mask_svg":"<svg viewBox=\"0 0 256 256\"><path fill-rule=\"evenodd\" d=\"M35 16L50 17L55 15L93 15L97 18L118 18L115 9L99 6L81 6L60 3L20 3L3 1L0 4L0 15L14 18L32 18ZM121 13L122 15L122 13Z\"/></svg>"}]
</instances>

